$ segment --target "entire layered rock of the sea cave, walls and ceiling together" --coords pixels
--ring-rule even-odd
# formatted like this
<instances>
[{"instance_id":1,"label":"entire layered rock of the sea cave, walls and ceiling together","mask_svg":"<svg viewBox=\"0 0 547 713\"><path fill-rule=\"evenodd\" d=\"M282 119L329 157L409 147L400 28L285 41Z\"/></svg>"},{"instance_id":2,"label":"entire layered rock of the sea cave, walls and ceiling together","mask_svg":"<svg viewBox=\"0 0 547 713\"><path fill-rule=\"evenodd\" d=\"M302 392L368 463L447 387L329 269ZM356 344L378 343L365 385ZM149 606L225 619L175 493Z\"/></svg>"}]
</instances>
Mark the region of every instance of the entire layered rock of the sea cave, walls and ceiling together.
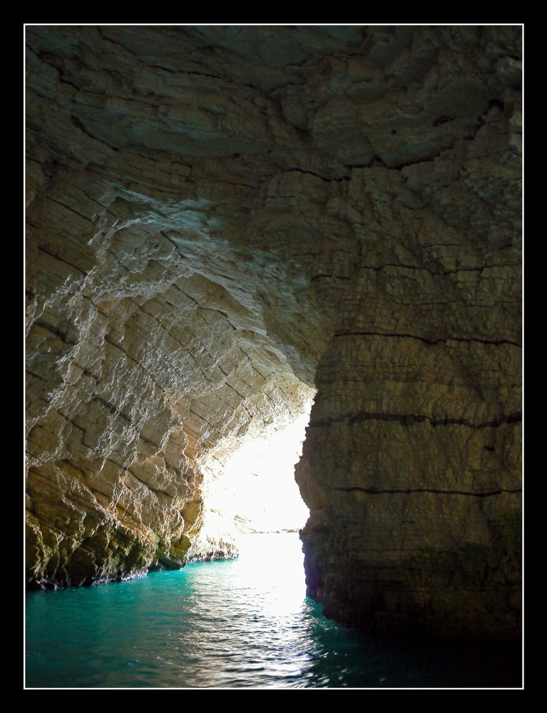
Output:
<instances>
[{"instance_id":1,"label":"entire layered rock of the sea cave, walls and ceiling together","mask_svg":"<svg viewBox=\"0 0 547 713\"><path fill-rule=\"evenodd\" d=\"M29 585L227 556L317 389L310 595L518 635L521 29L27 27Z\"/></svg>"}]
</instances>

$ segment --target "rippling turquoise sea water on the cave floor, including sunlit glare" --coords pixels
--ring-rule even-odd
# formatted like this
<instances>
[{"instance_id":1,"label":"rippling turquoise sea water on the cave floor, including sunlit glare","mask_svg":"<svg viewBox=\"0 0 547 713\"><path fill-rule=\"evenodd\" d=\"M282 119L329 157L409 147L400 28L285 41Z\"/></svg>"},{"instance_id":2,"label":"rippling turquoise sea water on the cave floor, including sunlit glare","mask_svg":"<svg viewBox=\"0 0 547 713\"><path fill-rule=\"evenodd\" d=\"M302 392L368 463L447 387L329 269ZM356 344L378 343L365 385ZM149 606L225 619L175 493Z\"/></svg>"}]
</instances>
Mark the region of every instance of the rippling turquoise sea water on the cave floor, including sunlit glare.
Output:
<instances>
[{"instance_id":1,"label":"rippling turquoise sea water on the cave floor, including sunlit glare","mask_svg":"<svg viewBox=\"0 0 547 713\"><path fill-rule=\"evenodd\" d=\"M305 598L297 534L245 535L238 560L27 595L26 686L520 687L513 647L373 637Z\"/></svg>"}]
</instances>

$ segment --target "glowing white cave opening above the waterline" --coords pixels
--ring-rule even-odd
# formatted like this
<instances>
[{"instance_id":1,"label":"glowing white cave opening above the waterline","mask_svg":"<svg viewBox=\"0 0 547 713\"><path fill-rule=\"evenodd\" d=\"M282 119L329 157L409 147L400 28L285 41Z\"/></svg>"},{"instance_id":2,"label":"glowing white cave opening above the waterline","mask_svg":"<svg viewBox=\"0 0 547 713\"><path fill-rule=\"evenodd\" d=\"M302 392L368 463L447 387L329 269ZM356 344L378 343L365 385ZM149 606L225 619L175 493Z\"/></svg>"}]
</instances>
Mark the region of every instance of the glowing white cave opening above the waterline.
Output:
<instances>
[{"instance_id":1,"label":"glowing white cave opening above the waterline","mask_svg":"<svg viewBox=\"0 0 547 713\"><path fill-rule=\"evenodd\" d=\"M311 407L310 401L307 411L290 426L247 441L228 458L207 498L213 520L218 516L224 528L230 523L234 535L304 527L310 511L295 482L295 464L302 454Z\"/></svg>"}]
</instances>

